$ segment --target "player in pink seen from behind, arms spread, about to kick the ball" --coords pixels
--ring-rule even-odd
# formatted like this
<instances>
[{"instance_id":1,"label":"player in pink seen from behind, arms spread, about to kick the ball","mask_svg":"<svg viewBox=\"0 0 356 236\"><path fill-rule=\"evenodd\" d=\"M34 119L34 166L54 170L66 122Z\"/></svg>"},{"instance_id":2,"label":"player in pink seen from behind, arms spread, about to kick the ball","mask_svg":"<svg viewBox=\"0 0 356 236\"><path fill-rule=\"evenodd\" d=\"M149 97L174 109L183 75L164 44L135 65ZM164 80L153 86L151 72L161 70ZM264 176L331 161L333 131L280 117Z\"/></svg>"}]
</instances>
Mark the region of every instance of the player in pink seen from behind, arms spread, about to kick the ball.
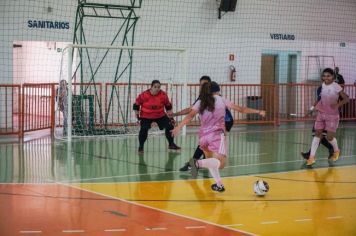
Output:
<instances>
[{"instance_id":1,"label":"player in pink seen from behind, arms spread, about to kick the ball","mask_svg":"<svg viewBox=\"0 0 356 236\"><path fill-rule=\"evenodd\" d=\"M201 86L200 100L194 104L192 110L183 121L172 130L172 135L176 136L179 130L199 113L201 122L199 145L204 151L206 159L190 159L192 176L193 178L197 177L199 168L208 168L216 182L211 186L211 189L217 192L224 192L225 188L219 169L224 168L227 157L225 109L230 108L241 113L257 113L261 116L265 116L265 111L235 105L231 101L219 96L219 92L212 93L211 91L220 91L216 87L219 87L216 82L204 83Z\"/></svg>"}]
</instances>

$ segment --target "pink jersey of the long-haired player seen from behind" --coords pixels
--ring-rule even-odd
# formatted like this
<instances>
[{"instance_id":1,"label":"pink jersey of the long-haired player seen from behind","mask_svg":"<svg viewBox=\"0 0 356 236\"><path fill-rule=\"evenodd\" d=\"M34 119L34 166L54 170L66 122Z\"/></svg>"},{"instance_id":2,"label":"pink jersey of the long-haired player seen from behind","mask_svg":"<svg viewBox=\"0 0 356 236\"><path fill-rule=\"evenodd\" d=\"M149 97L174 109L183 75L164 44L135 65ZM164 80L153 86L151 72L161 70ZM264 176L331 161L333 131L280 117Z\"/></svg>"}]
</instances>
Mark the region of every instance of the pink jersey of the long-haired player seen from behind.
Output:
<instances>
[{"instance_id":1,"label":"pink jersey of the long-haired player seen from behind","mask_svg":"<svg viewBox=\"0 0 356 236\"><path fill-rule=\"evenodd\" d=\"M225 109L231 108L232 102L227 99L214 95L215 109L210 112L205 110L203 114L200 114L200 130L199 135L204 136L214 131L225 130ZM192 107L193 110L199 111L201 101L198 100Z\"/></svg>"}]
</instances>

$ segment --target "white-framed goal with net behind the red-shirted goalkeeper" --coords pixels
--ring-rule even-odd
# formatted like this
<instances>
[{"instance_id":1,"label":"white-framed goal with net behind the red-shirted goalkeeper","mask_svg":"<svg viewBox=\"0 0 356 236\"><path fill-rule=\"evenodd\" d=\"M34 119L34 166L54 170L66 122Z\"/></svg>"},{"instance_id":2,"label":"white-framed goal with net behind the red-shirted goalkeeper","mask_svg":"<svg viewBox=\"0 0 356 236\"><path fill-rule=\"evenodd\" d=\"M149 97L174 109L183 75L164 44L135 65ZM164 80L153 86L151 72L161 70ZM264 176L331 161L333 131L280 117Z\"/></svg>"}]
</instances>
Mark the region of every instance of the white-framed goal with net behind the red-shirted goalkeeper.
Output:
<instances>
[{"instance_id":1,"label":"white-framed goal with net behind the red-shirted goalkeeper","mask_svg":"<svg viewBox=\"0 0 356 236\"><path fill-rule=\"evenodd\" d=\"M55 137L137 134L132 107L152 80L161 82L175 110L184 108L185 50L69 45L56 90Z\"/></svg>"}]
</instances>

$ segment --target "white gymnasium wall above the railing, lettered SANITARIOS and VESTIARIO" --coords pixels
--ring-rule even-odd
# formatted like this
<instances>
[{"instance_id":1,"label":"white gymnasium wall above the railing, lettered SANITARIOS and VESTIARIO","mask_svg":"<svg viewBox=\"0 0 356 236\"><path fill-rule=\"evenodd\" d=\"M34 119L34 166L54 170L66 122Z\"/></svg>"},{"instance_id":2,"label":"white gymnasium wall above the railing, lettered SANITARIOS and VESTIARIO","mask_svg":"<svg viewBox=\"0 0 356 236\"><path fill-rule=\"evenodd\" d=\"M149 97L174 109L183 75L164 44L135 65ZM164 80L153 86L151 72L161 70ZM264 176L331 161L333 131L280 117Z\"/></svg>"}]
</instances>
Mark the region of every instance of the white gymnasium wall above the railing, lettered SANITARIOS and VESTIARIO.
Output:
<instances>
[{"instance_id":1,"label":"white gymnasium wall above the railing, lettered SANITARIOS and VESTIARIO","mask_svg":"<svg viewBox=\"0 0 356 236\"><path fill-rule=\"evenodd\" d=\"M17 81L14 77L24 76L13 71L13 42L72 41L76 4L75 0L0 2L0 83L12 83ZM238 71L235 83L260 83L262 52L287 51L300 52L297 82L306 79L308 55L328 55L335 57L346 83L353 83L355 12L355 0L238 0L236 11L219 20L215 0L143 0L142 8L136 12L140 20L135 45L189 49L188 80L192 82L208 74L227 83L228 66L233 64ZM34 29L28 27L29 20L69 22L70 28ZM88 34L92 34L90 42L102 43L106 34L108 42L111 40L110 32L117 25L94 20L87 27ZM272 40L271 33L293 34L295 40ZM346 47L341 48L340 42L345 42ZM236 57L233 62L228 60L230 53ZM284 75L281 72L279 82L286 81Z\"/></svg>"}]
</instances>

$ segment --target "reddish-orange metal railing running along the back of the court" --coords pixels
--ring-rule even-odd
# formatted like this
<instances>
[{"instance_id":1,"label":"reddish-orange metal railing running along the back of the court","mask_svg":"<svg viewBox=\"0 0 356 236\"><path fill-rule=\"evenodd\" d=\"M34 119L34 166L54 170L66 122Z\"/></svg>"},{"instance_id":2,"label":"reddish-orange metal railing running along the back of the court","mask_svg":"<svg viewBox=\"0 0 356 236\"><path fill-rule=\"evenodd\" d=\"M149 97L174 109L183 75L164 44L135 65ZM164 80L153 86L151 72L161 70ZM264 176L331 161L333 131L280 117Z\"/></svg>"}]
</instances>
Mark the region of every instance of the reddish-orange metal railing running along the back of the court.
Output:
<instances>
[{"instance_id":1,"label":"reddish-orange metal railing running along the back of the court","mask_svg":"<svg viewBox=\"0 0 356 236\"><path fill-rule=\"evenodd\" d=\"M148 89L150 84L73 84L73 93L79 94L83 86L87 94L94 94L94 125L102 127L120 126L123 122L135 123L132 105L136 96ZM0 135L22 137L26 132L42 129L53 132L57 87L58 84L54 83L0 85ZM316 100L318 85L221 84L220 87L221 95L235 104L266 110L264 118L233 112L235 123L279 125L282 122L314 120L308 111ZM199 95L199 84L188 84L187 91L182 84L162 84L161 88L170 97L174 111L185 108L182 107L183 98L187 99L186 104L193 104ZM344 91L349 95L350 102L340 109L340 119L356 120L356 86L345 85ZM177 120L182 118L177 117ZM191 123L197 124L198 118Z\"/></svg>"}]
</instances>

